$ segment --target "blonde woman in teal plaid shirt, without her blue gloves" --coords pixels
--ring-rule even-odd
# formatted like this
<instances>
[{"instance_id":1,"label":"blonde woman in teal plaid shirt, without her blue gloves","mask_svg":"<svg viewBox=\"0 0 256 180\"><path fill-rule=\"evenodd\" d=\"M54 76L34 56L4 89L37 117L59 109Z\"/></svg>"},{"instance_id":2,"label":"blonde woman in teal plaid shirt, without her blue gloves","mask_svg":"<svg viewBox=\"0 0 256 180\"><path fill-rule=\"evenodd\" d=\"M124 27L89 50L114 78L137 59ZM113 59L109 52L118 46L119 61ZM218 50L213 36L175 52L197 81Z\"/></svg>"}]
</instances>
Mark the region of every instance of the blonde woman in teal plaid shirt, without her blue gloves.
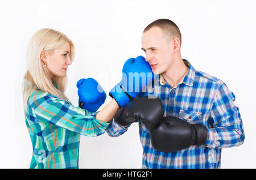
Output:
<instances>
[{"instance_id":1,"label":"blonde woman in teal plaid shirt, without her blue gloves","mask_svg":"<svg viewBox=\"0 0 256 180\"><path fill-rule=\"evenodd\" d=\"M114 99L100 112L69 102L64 92L74 55L72 41L53 29L40 29L28 44L23 104L33 146L30 168L79 168L80 135L103 134L119 108Z\"/></svg>"}]
</instances>

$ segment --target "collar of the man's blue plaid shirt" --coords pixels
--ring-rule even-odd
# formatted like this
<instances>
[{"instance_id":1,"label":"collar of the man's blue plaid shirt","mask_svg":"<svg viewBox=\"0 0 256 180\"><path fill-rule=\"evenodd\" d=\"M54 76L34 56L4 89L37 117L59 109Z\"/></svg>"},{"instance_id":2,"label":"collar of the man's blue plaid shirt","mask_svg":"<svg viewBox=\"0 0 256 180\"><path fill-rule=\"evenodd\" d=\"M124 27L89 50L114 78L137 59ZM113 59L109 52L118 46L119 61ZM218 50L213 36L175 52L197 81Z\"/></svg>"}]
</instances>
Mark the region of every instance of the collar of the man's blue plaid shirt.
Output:
<instances>
[{"instance_id":1,"label":"collar of the man's blue plaid shirt","mask_svg":"<svg viewBox=\"0 0 256 180\"><path fill-rule=\"evenodd\" d=\"M187 59L183 59L183 62L188 67L188 71L179 84L183 83L192 86L195 80L195 68L191 65L191 63L188 62ZM162 74L159 76L159 83L161 85L166 85L166 80L164 80Z\"/></svg>"}]
</instances>

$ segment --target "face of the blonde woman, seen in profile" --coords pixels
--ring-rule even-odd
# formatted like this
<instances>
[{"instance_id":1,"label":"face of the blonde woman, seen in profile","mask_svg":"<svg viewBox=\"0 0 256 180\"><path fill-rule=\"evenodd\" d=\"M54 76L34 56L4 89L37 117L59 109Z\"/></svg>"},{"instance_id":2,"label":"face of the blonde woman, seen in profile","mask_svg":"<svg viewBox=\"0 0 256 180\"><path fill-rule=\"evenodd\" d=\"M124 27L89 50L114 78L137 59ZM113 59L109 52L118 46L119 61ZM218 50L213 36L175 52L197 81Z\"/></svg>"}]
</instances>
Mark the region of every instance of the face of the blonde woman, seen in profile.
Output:
<instances>
[{"instance_id":1,"label":"face of the blonde woman, seen in profile","mask_svg":"<svg viewBox=\"0 0 256 180\"><path fill-rule=\"evenodd\" d=\"M49 53L45 50L42 51L42 61L46 62L46 67L49 70L51 77L65 76L69 65L71 65L71 59L69 57L70 45L69 42L65 43L59 49L53 50Z\"/></svg>"}]
</instances>

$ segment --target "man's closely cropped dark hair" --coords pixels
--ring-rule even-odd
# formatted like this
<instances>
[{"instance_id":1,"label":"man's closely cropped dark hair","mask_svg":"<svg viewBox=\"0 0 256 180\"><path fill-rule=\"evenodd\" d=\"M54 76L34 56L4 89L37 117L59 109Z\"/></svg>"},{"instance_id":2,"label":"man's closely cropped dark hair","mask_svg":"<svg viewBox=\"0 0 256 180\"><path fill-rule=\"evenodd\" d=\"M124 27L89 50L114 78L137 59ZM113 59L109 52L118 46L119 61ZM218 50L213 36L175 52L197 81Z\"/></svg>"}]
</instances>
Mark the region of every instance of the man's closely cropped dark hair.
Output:
<instances>
[{"instance_id":1,"label":"man's closely cropped dark hair","mask_svg":"<svg viewBox=\"0 0 256 180\"><path fill-rule=\"evenodd\" d=\"M168 36L169 40L176 37L179 38L181 44L181 33L177 25L169 19L158 19L147 25L143 32L148 31L152 27L159 27Z\"/></svg>"}]
</instances>

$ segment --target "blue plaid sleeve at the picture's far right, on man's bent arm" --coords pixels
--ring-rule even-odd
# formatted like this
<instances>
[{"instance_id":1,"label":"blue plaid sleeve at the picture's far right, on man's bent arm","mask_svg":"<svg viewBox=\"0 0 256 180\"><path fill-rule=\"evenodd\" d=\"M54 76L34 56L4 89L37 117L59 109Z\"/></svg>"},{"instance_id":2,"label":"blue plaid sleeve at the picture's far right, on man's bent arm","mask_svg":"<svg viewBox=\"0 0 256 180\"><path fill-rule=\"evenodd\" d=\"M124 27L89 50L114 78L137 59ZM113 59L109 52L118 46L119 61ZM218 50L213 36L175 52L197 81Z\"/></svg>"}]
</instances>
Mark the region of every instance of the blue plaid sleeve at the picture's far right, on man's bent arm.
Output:
<instances>
[{"instance_id":1,"label":"blue plaid sleeve at the picture's far right, on man's bent arm","mask_svg":"<svg viewBox=\"0 0 256 180\"><path fill-rule=\"evenodd\" d=\"M222 84L210 113L213 128L208 128L207 146L226 148L241 145L245 139L239 108L234 105L236 97Z\"/></svg>"}]
</instances>

